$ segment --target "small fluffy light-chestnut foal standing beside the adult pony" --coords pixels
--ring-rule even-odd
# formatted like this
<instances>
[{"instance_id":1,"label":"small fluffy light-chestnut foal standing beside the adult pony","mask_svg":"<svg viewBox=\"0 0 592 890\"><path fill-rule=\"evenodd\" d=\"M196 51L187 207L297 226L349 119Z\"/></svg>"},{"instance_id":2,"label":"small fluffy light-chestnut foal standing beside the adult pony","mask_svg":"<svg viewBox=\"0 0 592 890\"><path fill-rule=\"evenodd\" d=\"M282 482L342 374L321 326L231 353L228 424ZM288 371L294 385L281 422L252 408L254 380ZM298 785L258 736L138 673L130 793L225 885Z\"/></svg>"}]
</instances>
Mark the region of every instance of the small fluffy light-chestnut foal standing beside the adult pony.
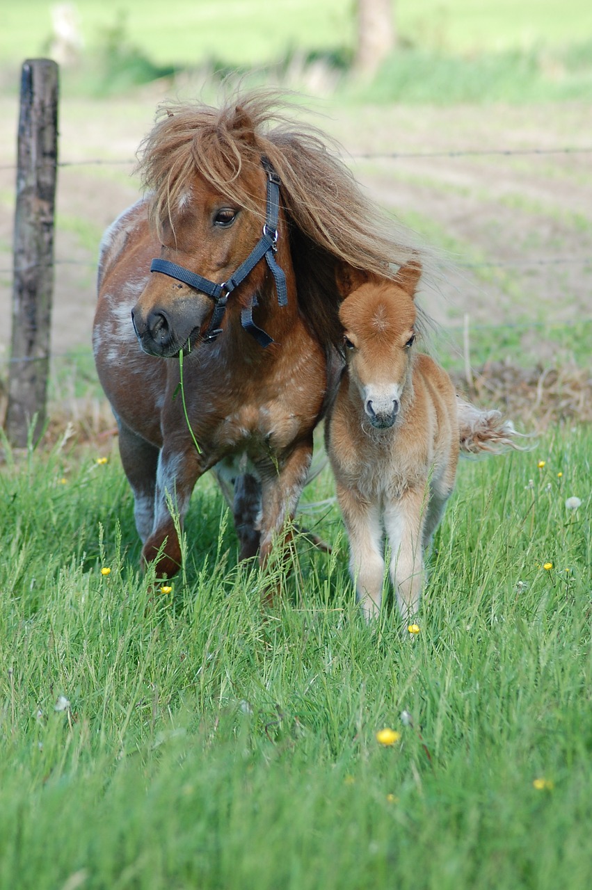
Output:
<instances>
[{"instance_id":1,"label":"small fluffy light-chestnut foal standing beside the adult pony","mask_svg":"<svg viewBox=\"0 0 592 890\"><path fill-rule=\"evenodd\" d=\"M454 487L461 447L512 445L514 428L458 400L448 374L416 353L421 266L394 280L342 272L339 312L346 368L326 424L328 456L350 541L350 571L367 620L377 617L385 573L403 619L418 611L424 554ZM347 295L349 294L349 295Z\"/></svg>"}]
</instances>

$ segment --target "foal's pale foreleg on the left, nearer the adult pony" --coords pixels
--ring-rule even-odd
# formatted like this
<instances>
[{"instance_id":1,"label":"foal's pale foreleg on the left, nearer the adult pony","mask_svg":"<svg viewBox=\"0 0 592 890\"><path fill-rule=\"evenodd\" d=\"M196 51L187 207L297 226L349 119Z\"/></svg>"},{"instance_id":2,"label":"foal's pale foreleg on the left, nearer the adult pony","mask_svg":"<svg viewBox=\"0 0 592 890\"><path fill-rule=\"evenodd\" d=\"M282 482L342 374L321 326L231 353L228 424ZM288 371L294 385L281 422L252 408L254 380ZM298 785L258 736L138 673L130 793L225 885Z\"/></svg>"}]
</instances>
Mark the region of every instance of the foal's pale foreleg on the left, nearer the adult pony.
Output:
<instances>
[{"instance_id":1,"label":"foal's pale foreleg on the left, nearer the adult pony","mask_svg":"<svg viewBox=\"0 0 592 890\"><path fill-rule=\"evenodd\" d=\"M350 574L364 618L376 619L382 603L385 560L382 524L377 504L365 501L337 483L337 500L350 544Z\"/></svg>"}]
</instances>

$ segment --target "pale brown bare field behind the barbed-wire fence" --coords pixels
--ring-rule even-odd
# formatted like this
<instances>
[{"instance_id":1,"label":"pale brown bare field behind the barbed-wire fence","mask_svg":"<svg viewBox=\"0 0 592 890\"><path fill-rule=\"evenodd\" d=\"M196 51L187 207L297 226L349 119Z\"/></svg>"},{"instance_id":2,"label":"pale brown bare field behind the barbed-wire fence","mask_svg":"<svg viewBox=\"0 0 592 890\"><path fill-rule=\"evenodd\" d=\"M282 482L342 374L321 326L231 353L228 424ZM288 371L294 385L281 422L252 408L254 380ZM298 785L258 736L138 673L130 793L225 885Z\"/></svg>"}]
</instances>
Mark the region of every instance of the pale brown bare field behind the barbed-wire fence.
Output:
<instances>
[{"instance_id":1,"label":"pale brown bare field behind the barbed-wire fence","mask_svg":"<svg viewBox=\"0 0 592 890\"><path fill-rule=\"evenodd\" d=\"M101 231L138 195L134 154L157 101L61 104L68 166L58 184L55 354L90 342ZM16 98L0 99L0 114L0 311L10 320ZM547 153L592 147L588 107L332 108L317 123L344 145L377 203L448 251L423 296L435 320L592 319L592 154ZM531 149L541 153L452 154ZM9 341L10 323L0 330L0 362Z\"/></svg>"}]
</instances>

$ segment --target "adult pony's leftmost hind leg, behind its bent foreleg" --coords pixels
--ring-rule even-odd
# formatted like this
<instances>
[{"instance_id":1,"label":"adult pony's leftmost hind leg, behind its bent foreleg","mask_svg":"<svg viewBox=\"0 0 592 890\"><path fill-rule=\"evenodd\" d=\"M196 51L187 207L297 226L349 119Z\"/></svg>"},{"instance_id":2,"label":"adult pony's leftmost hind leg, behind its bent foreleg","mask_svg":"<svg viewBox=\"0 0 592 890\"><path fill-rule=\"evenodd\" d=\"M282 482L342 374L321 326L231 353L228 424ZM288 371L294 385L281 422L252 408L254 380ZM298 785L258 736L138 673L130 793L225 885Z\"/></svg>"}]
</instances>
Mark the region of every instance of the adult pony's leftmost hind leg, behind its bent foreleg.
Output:
<instances>
[{"instance_id":1,"label":"adult pony's leftmost hind leg, behind its bent foreleg","mask_svg":"<svg viewBox=\"0 0 592 890\"><path fill-rule=\"evenodd\" d=\"M127 481L134 493L135 527L143 544L154 525L154 492L160 449L130 430L119 418L117 421L119 454Z\"/></svg>"}]
</instances>

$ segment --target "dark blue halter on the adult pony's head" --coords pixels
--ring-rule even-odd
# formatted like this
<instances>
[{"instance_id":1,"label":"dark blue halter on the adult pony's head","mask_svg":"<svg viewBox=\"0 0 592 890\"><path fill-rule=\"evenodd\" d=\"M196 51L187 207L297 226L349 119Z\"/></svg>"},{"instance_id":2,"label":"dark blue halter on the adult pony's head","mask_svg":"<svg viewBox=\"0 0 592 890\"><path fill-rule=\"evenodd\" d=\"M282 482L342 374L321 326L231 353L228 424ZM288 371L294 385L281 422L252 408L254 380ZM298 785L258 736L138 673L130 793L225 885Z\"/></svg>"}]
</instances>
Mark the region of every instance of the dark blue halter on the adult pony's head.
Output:
<instances>
[{"instance_id":1,"label":"dark blue halter on the adult pony's head","mask_svg":"<svg viewBox=\"0 0 592 890\"><path fill-rule=\"evenodd\" d=\"M247 278L248 273L255 268L259 260L265 257L265 261L272 272L275 280L275 288L278 294L278 304L280 306L288 305L288 288L286 287L286 276L275 260L275 252L278 249L278 215L280 212L280 177L273 169L271 162L267 158L262 158L261 163L267 174L267 206L265 208L265 224L261 238L255 244L247 259L240 263L239 268L231 275L231 278L222 284L215 284L214 281L203 278L196 272L178 266L176 263L169 263L168 260L154 259L150 264L151 272L163 272L171 278L183 281L190 287L195 287L202 294L206 294L214 300L214 312L209 323L209 328L204 335L204 339L215 340L218 334L222 334L223 315L228 302L228 295L238 287L239 284ZM257 305L256 295L251 299L248 306L240 312L240 323L248 334L255 337L260 346L269 346L273 343L273 339L266 334L261 328L257 328L253 320L253 308Z\"/></svg>"}]
</instances>

